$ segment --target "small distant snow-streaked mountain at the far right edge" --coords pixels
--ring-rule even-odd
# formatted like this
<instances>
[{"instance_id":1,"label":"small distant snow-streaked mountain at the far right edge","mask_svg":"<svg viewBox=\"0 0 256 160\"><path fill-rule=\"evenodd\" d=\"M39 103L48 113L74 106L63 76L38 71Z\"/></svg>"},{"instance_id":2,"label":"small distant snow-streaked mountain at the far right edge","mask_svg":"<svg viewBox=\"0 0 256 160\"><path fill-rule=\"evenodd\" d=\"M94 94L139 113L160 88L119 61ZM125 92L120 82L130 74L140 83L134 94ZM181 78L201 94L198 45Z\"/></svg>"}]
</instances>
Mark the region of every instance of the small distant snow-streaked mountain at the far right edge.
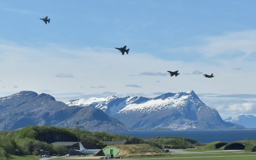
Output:
<instances>
[{"instance_id":1,"label":"small distant snow-streaked mountain at the far right edge","mask_svg":"<svg viewBox=\"0 0 256 160\"><path fill-rule=\"evenodd\" d=\"M256 117L252 115L240 114L234 117L224 119L226 122L243 125L246 128L256 128Z\"/></svg>"}]
</instances>

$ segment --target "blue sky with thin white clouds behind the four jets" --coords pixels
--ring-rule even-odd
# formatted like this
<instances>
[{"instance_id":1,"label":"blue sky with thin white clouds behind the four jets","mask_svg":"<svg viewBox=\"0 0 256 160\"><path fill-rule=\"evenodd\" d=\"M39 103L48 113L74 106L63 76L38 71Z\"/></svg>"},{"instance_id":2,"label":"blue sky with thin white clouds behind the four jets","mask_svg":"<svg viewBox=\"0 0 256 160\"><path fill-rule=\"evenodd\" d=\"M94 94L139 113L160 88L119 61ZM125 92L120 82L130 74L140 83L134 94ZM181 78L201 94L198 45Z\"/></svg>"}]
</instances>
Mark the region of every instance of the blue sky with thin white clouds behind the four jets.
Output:
<instances>
[{"instance_id":1,"label":"blue sky with thin white clouds behind the four jets","mask_svg":"<svg viewBox=\"0 0 256 160\"><path fill-rule=\"evenodd\" d=\"M255 4L1 1L0 95L32 90L66 101L188 90L256 94ZM45 16L50 24L39 20ZM123 45L130 48L128 55L114 49ZM181 74L169 77L167 70ZM201 72L216 76L206 79ZM239 102L256 107L253 100ZM219 104L207 105L213 103Z\"/></svg>"}]
</instances>

